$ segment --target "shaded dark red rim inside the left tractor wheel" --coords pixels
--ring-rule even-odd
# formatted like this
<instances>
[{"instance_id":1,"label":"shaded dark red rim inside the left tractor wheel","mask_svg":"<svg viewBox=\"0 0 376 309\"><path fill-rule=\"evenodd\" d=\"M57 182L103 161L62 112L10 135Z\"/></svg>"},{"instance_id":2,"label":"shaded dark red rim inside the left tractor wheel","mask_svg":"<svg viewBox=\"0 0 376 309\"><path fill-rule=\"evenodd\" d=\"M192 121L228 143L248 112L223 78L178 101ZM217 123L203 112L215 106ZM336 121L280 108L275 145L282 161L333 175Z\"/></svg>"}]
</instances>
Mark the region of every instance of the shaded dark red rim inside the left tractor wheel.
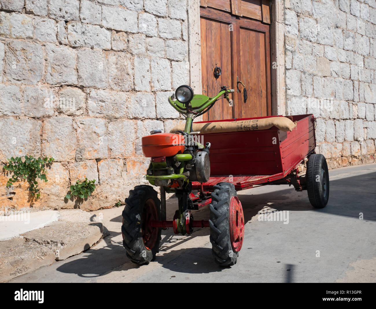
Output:
<instances>
[{"instance_id":1,"label":"shaded dark red rim inside the left tractor wheel","mask_svg":"<svg viewBox=\"0 0 376 309\"><path fill-rule=\"evenodd\" d=\"M141 214L142 239L147 250L154 248L155 242L158 237L159 228L153 228L152 226L150 226L150 222L153 220L159 220L158 211L154 200L148 199L145 202L144 209Z\"/></svg>"}]
</instances>

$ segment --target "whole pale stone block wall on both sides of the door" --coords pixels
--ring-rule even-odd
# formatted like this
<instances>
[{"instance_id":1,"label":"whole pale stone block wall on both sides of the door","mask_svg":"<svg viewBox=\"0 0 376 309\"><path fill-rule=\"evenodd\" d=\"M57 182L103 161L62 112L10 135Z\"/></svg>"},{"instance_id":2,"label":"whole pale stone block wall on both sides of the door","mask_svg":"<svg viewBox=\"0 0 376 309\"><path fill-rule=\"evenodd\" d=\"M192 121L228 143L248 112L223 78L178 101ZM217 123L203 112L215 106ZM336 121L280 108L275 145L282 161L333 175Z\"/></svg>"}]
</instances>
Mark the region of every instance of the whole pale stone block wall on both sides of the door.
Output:
<instances>
[{"instance_id":1,"label":"whole pale stone block wall on both sides of the door","mask_svg":"<svg viewBox=\"0 0 376 309\"><path fill-rule=\"evenodd\" d=\"M375 0L277 2L274 112L313 113L330 168L374 162ZM123 203L144 183L141 137L179 117L167 96L186 83L200 92L199 0L0 0L0 77L0 163L56 161L39 200L2 173L0 210ZM85 177L94 195L64 200Z\"/></svg>"}]
</instances>

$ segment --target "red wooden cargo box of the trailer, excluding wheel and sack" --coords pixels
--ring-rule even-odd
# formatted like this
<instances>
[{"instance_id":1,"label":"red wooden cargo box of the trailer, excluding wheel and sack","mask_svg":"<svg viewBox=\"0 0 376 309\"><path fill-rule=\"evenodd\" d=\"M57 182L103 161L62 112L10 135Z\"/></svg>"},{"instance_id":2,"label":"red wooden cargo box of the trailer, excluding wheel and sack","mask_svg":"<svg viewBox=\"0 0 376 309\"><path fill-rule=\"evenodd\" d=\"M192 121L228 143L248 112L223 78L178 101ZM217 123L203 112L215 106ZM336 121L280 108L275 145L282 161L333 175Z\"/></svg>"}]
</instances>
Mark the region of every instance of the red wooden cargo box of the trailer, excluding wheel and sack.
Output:
<instances>
[{"instance_id":1,"label":"red wooden cargo box of the trailer, excluding wheel and sack","mask_svg":"<svg viewBox=\"0 0 376 309\"><path fill-rule=\"evenodd\" d=\"M289 118L297 121L297 127L292 132L283 132L272 127L268 130L201 135L202 144L211 143L211 177L203 184L204 190L213 190L214 185L219 182L230 182L235 185L236 190L244 190L253 185L283 179L291 173L314 151L316 143L313 115L295 115ZM255 118L226 121L245 119ZM193 182L192 185L193 190L201 188L199 182Z\"/></svg>"}]
</instances>

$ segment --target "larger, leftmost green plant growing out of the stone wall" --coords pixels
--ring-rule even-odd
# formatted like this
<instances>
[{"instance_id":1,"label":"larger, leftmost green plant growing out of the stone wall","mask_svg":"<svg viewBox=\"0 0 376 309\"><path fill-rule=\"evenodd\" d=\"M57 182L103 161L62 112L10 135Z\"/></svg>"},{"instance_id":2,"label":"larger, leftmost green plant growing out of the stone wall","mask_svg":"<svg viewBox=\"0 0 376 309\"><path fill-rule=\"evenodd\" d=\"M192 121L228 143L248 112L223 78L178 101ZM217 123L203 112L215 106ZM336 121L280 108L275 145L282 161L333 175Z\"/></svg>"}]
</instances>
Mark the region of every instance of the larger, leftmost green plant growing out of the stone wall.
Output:
<instances>
[{"instance_id":1,"label":"larger, leftmost green plant growing out of the stone wall","mask_svg":"<svg viewBox=\"0 0 376 309\"><path fill-rule=\"evenodd\" d=\"M5 164L3 170L12 172L13 175L6 183L7 187L12 187L14 182L25 179L29 183L29 191L32 197L39 199L40 193L38 188L37 178L47 182L46 167L50 166L54 158L33 158L33 156L24 156L24 161L21 157L8 159L8 164Z\"/></svg>"}]
</instances>

